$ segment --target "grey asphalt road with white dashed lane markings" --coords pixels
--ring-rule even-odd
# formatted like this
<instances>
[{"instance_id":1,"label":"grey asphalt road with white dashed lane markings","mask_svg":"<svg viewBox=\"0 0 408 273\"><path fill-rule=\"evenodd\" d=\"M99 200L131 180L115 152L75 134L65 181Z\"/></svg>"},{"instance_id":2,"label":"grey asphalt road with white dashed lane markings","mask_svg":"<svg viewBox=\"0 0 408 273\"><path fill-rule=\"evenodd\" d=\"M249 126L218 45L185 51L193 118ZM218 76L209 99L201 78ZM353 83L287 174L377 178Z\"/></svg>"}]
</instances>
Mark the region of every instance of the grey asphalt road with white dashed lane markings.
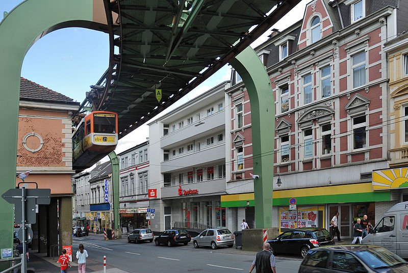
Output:
<instances>
[{"instance_id":1,"label":"grey asphalt road with white dashed lane markings","mask_svg":"<svg viewBox=\"0 0 408 273\"><path fill-rule=\"evenodd\" d=\"M79 243L83 243L88 251L87 272L103 269L104 255L109 267L135 273L247 272L255 254L235 248L194 249L191 242L171 248L165 245L157 246L154 242L127 243L125 236L123 239L110 241L105 241L97 235L72 239L73 254L77 252ZM277 256L276 270L279 273L294 273L298 271L300 262L301 259L297 257Z\"/></svg>"}]
</instances>

